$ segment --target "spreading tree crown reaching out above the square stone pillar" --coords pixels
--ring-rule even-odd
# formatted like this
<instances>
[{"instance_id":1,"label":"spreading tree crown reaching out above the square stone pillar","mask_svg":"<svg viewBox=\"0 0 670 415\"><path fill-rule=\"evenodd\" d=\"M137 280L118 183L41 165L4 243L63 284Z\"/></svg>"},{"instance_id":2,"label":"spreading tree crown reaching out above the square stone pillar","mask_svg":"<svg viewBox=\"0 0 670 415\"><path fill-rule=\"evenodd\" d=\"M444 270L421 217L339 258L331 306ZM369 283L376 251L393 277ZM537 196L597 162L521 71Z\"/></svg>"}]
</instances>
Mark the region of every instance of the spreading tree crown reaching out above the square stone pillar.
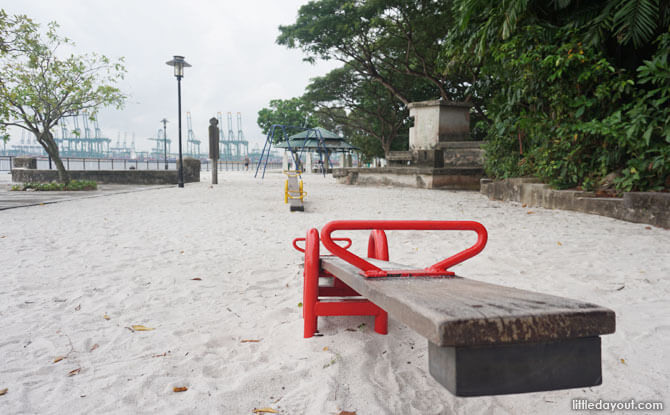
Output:
<instances>
[{"instance_id":1,"label":"spreading tree crown reaching out above the square stone pillar","mask_svg":"<svg viewBox=\"0 0 670 415\"><path fill-rule=\"evenodd\" d=\"M437 66L441 42L453 22L450 5L446 0L312 1L300 8L294 24L279 27L277 43L301 48L308 61L348 64L405 105L413 97L398 83L403 76L432 85L419 99L461 100L471 79Z\"/></svg>"}]
</instances>

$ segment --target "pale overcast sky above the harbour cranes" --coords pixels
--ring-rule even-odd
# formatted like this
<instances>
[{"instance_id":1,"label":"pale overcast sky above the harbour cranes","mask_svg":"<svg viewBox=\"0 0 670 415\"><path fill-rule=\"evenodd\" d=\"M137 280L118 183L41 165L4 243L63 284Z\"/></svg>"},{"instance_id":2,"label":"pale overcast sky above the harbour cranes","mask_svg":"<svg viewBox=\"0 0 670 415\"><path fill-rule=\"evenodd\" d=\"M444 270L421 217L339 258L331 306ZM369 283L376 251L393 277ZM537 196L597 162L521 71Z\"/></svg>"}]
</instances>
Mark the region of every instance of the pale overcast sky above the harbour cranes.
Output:
<instances>
[{"instance_id":1,"label":"pale overcast sky above the harbour cranes","mask_svg":"<svg viewBox=\"0 0 670 415\"><path fill-rule=\"evenodd\" d=\"M177 81L165 64L183 55L192 68L182 80L182 139L186 111L193 119L201 151L206 152L209 118L221 111L242 114L249 150L262 146L256 118L271 99L302 95L309 79L337 66L310 65L299 50L277 45L281 24L295 22L308 0L11 0L0 1L8 14L26 14L38 23L55 20L60 33L76 43L78 53L125 57L128 73L120 85L130 97L123 110L103 110L98 117L105 136L135 133L137 150L149 150L167 118L168 138L177 137ZM227 130L227 126L224 127ZM18 144L13 137L9 143ZM173 141L172 151L176 151Z\"/></svg>"}]
</instances>

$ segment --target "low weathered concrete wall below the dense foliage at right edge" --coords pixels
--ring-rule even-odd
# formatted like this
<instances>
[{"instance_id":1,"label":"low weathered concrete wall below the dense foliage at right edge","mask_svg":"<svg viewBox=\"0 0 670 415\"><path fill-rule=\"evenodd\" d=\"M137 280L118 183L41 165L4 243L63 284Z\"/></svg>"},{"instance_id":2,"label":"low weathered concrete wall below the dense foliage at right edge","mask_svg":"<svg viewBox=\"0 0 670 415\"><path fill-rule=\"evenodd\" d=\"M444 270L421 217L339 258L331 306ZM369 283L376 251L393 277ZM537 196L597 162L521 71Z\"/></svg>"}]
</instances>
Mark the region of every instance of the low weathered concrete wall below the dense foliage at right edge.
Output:
<instances>
[{"instance_id":1,"label":"low weathered concrete wall below the dense foliage at right edge","mask_svg":"<svg viewBox=\"0 0 670 415\"><path fill-rule=\"evenodd\" d=\"M537 179L482 179L481 193L492 200L531 207L573 210L670 229L670 193L630 192L623 198L595 197L591 192L555 190Z\"/></svg>"}]
</instances>

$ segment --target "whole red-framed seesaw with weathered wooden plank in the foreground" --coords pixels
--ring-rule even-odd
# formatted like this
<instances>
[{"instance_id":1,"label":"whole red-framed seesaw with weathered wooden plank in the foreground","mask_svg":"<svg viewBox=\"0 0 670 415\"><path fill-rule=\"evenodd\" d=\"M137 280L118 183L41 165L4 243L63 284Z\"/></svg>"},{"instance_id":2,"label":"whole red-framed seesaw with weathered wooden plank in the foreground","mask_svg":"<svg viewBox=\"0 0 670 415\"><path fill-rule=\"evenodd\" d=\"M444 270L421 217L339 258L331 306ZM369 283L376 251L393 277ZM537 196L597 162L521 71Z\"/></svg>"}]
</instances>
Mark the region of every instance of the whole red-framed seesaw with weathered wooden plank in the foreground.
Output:
<instances>
[{"instance_id":1,"label":"whole red-framed seesaw with weathered wooden plank in the foreground","mask_svg":"<svg viewBox=\"0 0 670 415\"><path fill-rule=\"evenodd\" d=\"M367 258L349 251L349 238L332 236L342 230L371 231ZM387 230L474 231L477 241L411 269L389 262ZM293 241L305 254L304 336L314 335L319 316L357 315L375 316L375 331L386 334L391 316L427 339L430 374L457 396L601 384L600 335L614 332L614 312L449 270L481 252L486 240L484 226L471 221L334 221L323 227L321 240L310 229ZM305 241L305 249L298 241ZM319 254L321 243L332 255Z\"/></svg>"}]
</instances>

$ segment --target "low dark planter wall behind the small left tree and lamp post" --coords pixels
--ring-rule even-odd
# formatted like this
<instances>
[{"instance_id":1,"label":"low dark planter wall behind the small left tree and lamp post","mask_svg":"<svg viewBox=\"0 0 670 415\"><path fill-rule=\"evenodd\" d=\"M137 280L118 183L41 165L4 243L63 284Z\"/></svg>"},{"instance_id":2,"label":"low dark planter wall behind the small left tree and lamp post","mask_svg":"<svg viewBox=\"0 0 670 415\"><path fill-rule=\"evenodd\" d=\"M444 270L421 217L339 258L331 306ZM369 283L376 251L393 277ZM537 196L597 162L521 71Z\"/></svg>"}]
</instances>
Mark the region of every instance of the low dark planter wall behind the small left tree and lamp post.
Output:
<instances>
[{"instance_id":1,"label":"low dark planter wall behind the small left tree and lamp post","mask_svg":"<svg viewBox=\"0 0 670 415\"><path fill-rule=\"evenodd\" d=\"M188 172L188 174L187 174ZM109 184L177 184L176 170L70 170L73 180L94 180ZM52 182L58 180L57 170L12 170L15 183ZM184 182L199 182L200 174L194 177L191 171L184 169Z\"/></svg>"}]
</instances>

